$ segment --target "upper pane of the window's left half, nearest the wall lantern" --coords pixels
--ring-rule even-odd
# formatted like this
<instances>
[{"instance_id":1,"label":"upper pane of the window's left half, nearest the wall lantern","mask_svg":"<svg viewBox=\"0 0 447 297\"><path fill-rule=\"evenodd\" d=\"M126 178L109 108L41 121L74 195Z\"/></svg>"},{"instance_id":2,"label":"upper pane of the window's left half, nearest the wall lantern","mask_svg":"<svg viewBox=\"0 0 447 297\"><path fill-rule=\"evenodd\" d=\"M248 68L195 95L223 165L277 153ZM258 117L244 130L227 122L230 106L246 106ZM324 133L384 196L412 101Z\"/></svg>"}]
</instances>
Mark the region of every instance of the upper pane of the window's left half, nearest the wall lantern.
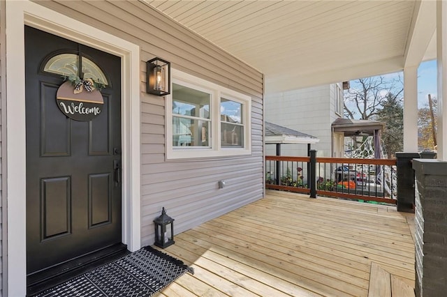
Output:
<instances>
[{"instance_id":1,"label":"upper pane of the window's left half, nearest the wall lantern","mask_svg":"<svg viewBox=\"0 0 447 297\"><path fill-rule=\"evenodd\" d=\"M210 119L211 95L173 84L173 114Z\"/></svg>"}]
</instances>

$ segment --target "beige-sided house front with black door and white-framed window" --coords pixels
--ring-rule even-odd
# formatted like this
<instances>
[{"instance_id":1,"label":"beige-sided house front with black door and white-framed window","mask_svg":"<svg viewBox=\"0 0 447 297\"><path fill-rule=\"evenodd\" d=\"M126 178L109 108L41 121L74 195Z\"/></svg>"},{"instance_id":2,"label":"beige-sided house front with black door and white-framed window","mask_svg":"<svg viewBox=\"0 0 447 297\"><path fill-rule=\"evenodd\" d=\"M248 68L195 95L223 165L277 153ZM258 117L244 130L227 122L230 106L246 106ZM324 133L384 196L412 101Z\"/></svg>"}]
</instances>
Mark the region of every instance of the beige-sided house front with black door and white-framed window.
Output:
<instances>
[{"instance_id":1,"label":"beige-sided house front with black door and white-framed window","mask_svg":"<svg viewBox=\"0 0 447 297\"><path fill-rule=\"evenodd\" d=\"M0 13L4 296L92 251L152 245L162 207L177 234L263 197L258 70L142 1L1 1ZM91 121L57 108L80 55L107 85ZM146 93L155 56L171 62L169 96Z\"/></svg>"}]
</instances>

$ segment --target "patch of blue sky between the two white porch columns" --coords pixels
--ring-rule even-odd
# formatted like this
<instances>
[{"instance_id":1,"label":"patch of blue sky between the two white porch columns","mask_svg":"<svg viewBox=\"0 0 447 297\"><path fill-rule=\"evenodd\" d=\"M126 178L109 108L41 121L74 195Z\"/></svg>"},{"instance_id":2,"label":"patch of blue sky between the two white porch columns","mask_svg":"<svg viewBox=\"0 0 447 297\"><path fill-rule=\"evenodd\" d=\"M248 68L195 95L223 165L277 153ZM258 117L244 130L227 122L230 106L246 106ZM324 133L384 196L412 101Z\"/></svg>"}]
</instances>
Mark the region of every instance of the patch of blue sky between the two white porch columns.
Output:
<instances>
[{"instance_id":1,"label":"patch of blue sky between the two white porch columns","mask_svg":"<svg viewBox=\"0 0 447 297\"><path fill-rule=\"evenodd\" d=\"M428 94L437 97L436 60L420 63L418 68L418 107L428 104Z\"/></svg>"}]
</instances>

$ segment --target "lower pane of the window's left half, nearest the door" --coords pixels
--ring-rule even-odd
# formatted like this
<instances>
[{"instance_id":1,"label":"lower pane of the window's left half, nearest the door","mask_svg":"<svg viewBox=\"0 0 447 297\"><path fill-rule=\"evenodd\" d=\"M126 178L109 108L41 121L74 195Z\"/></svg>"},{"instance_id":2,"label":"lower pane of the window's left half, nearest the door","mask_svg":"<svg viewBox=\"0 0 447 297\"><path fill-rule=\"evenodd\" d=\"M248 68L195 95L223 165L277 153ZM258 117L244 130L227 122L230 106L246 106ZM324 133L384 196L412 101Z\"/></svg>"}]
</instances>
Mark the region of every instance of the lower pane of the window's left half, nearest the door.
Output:
<instances>
[{"instance_id":1,"label":"lower pane of the window's left half, nearest the door","mask_svg":"<svg viewBox=\"0 0 447 297\"><path fill-rule=\"evenodd\" d=\"M173 116L173 146L210 147L210 121Z\"/></svg>"}]
</instances>

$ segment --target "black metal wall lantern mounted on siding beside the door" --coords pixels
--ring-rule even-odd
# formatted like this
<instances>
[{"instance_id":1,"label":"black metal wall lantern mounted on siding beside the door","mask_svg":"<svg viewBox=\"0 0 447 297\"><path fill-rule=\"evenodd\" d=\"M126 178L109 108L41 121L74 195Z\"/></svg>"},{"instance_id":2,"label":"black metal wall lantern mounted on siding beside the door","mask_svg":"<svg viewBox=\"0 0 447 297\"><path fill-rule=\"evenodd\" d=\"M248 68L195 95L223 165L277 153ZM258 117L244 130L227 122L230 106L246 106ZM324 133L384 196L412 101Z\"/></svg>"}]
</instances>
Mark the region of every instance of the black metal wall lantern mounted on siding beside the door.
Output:
<instances>
[{"instance_id":1,"label":"black metal wall lantern mounted on siding beside the door","mask_svg":"<svg viewBox=\"0 0 447 297\"><path fill-rule=\"evenodd\" d=\"M156 96L170 94L170 62L154 58L146 62L146 93Z\"/></svg>"}]
</instances>

